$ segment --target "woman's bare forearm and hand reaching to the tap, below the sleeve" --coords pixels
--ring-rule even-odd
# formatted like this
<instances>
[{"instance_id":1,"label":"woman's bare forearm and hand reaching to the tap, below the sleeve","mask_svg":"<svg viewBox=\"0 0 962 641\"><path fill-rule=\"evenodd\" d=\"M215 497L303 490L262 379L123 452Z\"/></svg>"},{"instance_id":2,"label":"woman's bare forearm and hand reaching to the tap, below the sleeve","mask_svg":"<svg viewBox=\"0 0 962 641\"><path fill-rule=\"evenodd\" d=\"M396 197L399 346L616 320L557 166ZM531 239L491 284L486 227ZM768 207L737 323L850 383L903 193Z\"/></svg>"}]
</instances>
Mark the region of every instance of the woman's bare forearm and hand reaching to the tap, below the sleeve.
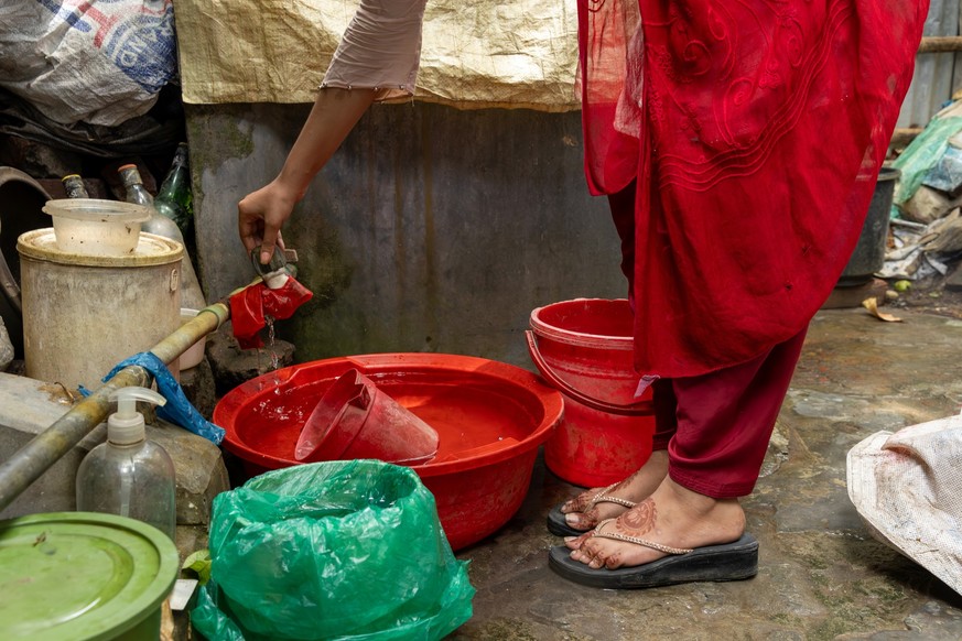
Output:
<instances>
[{"instance_id":1,"label":"woman's bare forearm and hand reaching to the tap, below the sleeve","mask_svg":"<svg viewBox=\"0 0 962 641\"><path fill-rule=\"evenodd\" d=\"M280 174L238 203L240 240L247 251L261 246L261 263L270 261L281 227L294 205L304 197L311 181L331 160L375 96L375 89L321 89Z\"/></svg>"}]
</instances>

